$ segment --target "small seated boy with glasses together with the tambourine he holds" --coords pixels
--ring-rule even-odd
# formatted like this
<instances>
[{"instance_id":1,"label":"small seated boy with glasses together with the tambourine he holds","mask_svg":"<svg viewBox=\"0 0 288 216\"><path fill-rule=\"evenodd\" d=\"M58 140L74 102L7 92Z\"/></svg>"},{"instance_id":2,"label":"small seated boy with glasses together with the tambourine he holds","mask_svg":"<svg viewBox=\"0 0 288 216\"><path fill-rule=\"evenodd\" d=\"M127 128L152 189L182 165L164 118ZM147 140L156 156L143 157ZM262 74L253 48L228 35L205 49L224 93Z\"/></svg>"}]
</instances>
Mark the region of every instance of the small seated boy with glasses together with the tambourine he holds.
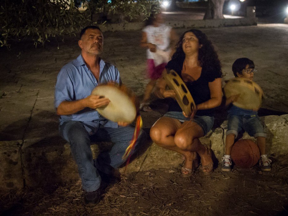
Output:
<instances>
[{"instance_id":1,"label":"small seated boy with glasses together with the tambourine he holds","mask_svg":"<svg viewBox=\"0 0 288 216\"><path fill-rule=\"evenodd\" d=\"M231 171L231 149L235 138L242 130L257 139L260 149L259 166L262 171L271 170L271 160L265 154L266 134L257 115L261 106L263 91L253 82L254 62L248 58L239 58L232 65L236 78L227 82L224 87L226 105L232 103L228 110L228 128L226 131L225 155L222 157L222 171Z\"/></svg>"}]
</instances>

